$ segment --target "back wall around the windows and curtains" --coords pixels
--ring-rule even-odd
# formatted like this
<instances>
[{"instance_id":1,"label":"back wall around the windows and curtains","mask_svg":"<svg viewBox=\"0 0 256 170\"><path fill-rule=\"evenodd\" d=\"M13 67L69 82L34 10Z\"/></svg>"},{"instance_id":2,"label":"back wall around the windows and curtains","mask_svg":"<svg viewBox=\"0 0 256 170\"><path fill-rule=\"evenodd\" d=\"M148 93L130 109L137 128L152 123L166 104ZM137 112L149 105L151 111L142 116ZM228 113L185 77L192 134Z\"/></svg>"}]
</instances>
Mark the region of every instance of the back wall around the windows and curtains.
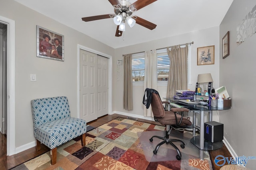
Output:
<instances>
[{"instance_id":1,"label":"back wall around the windows and curtains","mask_svg":"<svg viewBox=\"0 0 256 170\"><path fill-rule=\"evenodd\" d=\"M142 104L142 98L144 95L144 86L143 85L136 85L133 86L133 106L134 109L132 111L126 111L123 109L123 66L120 68L120 70L117 69L116 60L117 59L123 59L123 54L129 54L129 53L138 53L142 51L148 51L151 49L161 49L164 47L172 46L172 45L178 45L183 43L189 43L194 41L194 44L192 44L192 59L191 59L191 84L188 85L188 88L191 90L195 89L196 82L197 82L197 76L198 74L202 73L211 73L212 78L214 80L214 88L219 87L219 61L220 61L220 43L219 43L219 27L212 27L208 29L202 29L198 31L193 31L190 33L185 33L182 35L176 35L173 37L166 37L164 39L159 39L155 41L150 41L146 43L141 43L137 45L132 45L128 47L122 47L115 49L115 59L113 61L114 65L114 77L113 77L113 111L120 114L130 114L134 117L143 117L143 109L144 105ZM205 47L205 46L215 46L215 61L214 64L210 65L197 65L197 48L198 47ZM120 73L119 73L120 72ZM121 76L120 76L121 75ZM158 85L157 87L158 92L160 93L160 96L166 97L166 90L167 85ZM217 112L213 112L213 119L216 121L219 121ZM199 116L199 115L198 115Z\"/></svg>"}]
</instances>

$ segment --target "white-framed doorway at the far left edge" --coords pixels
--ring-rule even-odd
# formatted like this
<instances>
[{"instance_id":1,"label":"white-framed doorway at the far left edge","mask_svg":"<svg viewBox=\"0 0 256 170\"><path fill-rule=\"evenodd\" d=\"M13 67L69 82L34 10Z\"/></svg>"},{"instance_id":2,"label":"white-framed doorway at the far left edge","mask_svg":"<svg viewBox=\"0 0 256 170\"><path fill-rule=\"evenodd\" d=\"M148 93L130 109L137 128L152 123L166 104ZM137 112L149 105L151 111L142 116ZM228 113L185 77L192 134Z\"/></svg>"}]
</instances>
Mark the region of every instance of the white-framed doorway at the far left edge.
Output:
<instances>
[{"instance_id":1,"label":"white-framed doorway at the far left edge","mask_svg":"<svg viewBox=\"0 0 256 170\"><path fill-rule=\"evenodd\" d=\"M6 155L10 156L15 154L15 21L0 16L0 26L0 126L6 134Z\"/></svg>"}]
</instances>

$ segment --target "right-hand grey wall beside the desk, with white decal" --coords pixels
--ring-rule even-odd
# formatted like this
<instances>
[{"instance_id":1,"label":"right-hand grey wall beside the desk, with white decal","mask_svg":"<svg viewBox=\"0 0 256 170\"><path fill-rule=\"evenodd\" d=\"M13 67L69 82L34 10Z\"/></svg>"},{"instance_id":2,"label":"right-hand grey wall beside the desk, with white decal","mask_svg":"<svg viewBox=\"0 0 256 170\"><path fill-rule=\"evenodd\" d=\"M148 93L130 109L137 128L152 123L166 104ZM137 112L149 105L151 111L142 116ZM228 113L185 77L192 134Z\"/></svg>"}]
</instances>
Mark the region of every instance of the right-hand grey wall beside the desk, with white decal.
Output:
<instances>
[{"instance_id":1,"label":"right-hand grey wall beside the desk, with white decal","mask_svg":"<svg viewBox=\"0 0 256 170\"><path fill-rule=\"evenodd\" d=\"M226 86L232 97L232 108L223 111L220 120L224 123L224 137L231 145L234 156L256 156L256 34L246 38L241 45L236 45L236 28L254 6L255 0L234 0L220 24L220 43L230 31L230 55L220 59L220 85ZM246 168L255 167L256 160L249 160Z\"/></svg>"}]
</instances>

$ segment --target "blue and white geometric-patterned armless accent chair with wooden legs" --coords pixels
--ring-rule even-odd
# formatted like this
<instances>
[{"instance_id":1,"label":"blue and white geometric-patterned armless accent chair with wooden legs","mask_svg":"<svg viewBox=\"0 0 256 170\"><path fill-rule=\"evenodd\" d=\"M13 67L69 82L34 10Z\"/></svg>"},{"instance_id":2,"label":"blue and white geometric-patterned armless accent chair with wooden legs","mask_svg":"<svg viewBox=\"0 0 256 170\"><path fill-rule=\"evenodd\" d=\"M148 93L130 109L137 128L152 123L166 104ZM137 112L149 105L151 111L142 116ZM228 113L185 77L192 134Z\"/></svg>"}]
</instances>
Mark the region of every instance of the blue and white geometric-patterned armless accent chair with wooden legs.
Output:
<instances>
[{"instance_id":1,"label":"blue and white geometric-patterned armless accent chair with wooden legs","mask_svg":"<svg viewBox=\"0 0 256 170\"><path fill-rule=\"evenodd\" d=\"M36 150L41 143L51 149L51 164L56 164L57 147L81 136L85 146L86 121L70 117L67 97L31 100Z\"/></svg>"}]
</instances>

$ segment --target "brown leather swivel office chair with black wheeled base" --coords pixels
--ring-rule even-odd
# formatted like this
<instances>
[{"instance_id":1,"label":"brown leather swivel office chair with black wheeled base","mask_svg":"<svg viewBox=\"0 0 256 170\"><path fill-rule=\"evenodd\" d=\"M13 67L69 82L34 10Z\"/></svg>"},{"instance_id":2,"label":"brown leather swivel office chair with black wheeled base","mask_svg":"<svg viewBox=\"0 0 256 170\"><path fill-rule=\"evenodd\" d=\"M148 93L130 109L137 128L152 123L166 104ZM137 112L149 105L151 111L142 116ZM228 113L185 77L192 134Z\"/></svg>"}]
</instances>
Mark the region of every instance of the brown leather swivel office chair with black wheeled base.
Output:
<instances>
[{"instance_id":1,"label":"brown leather swivel office chair with black wheeled base","mask_svg":"<svg viewBox=\"0 0 256 170\"><path fill-rule=\"evenodd\" d=\"M180 150L172 142L180 142L181 143L180 147L182 149L185 147L185 143L179 139L169 139L169 134L172 130L172 127L177 127L177 126L186 127L186 126L192 125L189 118L183 116L184 111L189 111L189 109L187 109L187 108L172 108L170 111L166 111L164 109L163 102L161 101L161 98L160 98L158 92L154 89L151 89L150 92L152 95L150 104L152 107L154 119L155 119L155 121L161 123L162 125L166 125L166 136L165 137L153 136L149 139L150 142L153 141L154 137L164 140L164 141L160 142L158 145L156 145L156 148L154 149L153 153L157 154L158 148L161 145L163 145L164 143L166 143L166 144L169 143L170 145L172 145L172 147L174 147L174 149L177 150L178 154L176 155L176 158L177 158L177 160L180 160L181 159ZM166 103L166 102L164 102L164 103Z\"/></svg>"}]
</instances>

